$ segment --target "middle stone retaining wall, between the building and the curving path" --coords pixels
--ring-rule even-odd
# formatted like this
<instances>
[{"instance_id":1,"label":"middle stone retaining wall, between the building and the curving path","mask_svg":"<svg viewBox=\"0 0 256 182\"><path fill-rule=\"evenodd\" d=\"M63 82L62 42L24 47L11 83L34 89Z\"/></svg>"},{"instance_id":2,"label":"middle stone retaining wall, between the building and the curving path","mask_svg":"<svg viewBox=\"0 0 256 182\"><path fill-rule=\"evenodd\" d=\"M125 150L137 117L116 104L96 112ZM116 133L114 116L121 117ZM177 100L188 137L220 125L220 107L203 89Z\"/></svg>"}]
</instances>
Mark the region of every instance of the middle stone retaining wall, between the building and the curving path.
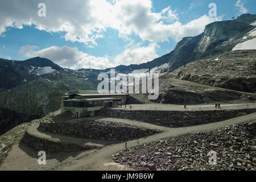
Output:
<instances>
[{"instance_id":1,"label":"middle stone retaining wall, between the building and the curving path","mask_svg":"<svg viewBox=\"0 0 256 182\"><path fill-rule=\"evenodd\" d=\"M40 122L39 129L63 135L110 141L127 141L147 137L160 130L146 129L109 121Z\"/></svg>"}]
</instances>

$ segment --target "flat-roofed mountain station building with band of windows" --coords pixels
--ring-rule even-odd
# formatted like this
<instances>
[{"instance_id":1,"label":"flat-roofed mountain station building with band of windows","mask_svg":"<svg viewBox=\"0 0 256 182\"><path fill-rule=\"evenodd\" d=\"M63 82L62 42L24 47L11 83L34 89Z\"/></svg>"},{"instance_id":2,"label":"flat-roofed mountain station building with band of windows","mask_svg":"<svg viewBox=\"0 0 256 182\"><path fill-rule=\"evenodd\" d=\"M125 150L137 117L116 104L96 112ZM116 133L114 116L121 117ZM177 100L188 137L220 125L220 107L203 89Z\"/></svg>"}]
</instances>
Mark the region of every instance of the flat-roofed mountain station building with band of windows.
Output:
<instances>
[{"instance_id":1,"label":"flat-roofed mountain station building with band of windows","mask_svg":"<svg viewBox=\"0 0 256 182\"><path fill-rule=\"evenodd\" d=\"M78 93L67 93L61 98L61 113L71 111L75 117L93 116L94 111L103 107L125 105L129 94L123 93L90 93L79 90Z\"/></svg>"}]
</instances>

